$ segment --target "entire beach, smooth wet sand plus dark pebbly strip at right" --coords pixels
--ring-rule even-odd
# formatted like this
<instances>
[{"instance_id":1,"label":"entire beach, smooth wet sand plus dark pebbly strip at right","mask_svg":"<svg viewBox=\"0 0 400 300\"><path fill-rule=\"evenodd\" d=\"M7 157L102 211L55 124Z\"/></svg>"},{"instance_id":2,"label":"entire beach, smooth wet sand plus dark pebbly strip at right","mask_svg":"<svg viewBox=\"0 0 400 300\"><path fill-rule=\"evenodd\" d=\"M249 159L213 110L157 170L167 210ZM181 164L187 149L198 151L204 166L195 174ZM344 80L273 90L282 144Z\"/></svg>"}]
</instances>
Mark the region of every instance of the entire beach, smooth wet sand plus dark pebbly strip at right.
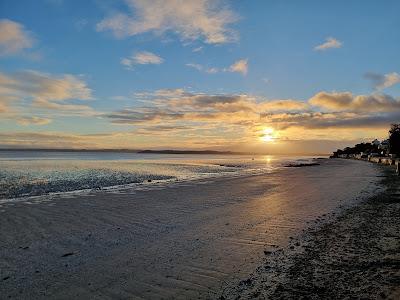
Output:
<instances>
[{"instance_id":1,"label":"entire beach, smooth wet sand plus dark pebbly strip at right","mask_svg":"<svg viewBox=\"0 0 400 300\"><path fill-rule=\"evenodd\" d=\"M11 299L395 295L390 288L398 286L399 214L392 194L398 179L389 179L390 172L362 161L322 159L319 165L266 174L4 202L0 294ZM384 248L383 258L371 243ZM371 260L363 261L364 254ZM348 280L341 277L346 266L353 272ZM359 274L357 266L367 270ZM370 268L386 281L371 283L368 276L377 275ZM343 285L337 288L335 282Z\"/></svg>"}]
</instances>

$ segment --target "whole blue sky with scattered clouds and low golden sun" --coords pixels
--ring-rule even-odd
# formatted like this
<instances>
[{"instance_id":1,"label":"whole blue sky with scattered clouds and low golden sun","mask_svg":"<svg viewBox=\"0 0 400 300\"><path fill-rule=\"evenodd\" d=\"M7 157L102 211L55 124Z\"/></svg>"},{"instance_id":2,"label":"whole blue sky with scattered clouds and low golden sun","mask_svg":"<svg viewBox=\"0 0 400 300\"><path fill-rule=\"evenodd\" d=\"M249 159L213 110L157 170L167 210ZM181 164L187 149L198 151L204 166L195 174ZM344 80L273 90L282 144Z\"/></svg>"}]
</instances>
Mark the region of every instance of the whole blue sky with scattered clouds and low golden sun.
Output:
<instances>
[{"instance_id":1,"label":"whole blue sky with scattered clouds and low golden sun","mask_svg":"<svg viewBox=\"0 0 400 300\"><path fill-rule=\"evenodd\" d=\"M329 153L400 122L400 1L0 0L0 147Z\"/></svg>"}]
</instances>

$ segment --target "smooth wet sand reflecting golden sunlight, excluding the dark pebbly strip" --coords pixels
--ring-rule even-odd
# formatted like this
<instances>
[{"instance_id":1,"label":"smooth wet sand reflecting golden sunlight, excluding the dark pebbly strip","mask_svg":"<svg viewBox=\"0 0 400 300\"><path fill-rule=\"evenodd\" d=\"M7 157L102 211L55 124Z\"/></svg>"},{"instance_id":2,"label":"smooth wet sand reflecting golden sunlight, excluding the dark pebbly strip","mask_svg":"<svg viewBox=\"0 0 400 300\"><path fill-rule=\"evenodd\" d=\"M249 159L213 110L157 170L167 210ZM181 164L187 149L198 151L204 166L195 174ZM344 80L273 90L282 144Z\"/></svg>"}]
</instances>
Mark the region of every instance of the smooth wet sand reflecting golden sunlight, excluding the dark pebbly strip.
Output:
<instances>
[{"instance_id":1,"label":"smooth wet sand reflecting golden sunlight, excluding the dark pebbly strip","mask_svg":"<svg viewBox=\"0 0 400 300\"><path fill-rule=\"evenodd\" d=\"M227 287L242 287L266 254L379 193L381 174L365 162L322 160L265 175L3 203L0 298L246 294Z\"/></svg>"}]
</instances>

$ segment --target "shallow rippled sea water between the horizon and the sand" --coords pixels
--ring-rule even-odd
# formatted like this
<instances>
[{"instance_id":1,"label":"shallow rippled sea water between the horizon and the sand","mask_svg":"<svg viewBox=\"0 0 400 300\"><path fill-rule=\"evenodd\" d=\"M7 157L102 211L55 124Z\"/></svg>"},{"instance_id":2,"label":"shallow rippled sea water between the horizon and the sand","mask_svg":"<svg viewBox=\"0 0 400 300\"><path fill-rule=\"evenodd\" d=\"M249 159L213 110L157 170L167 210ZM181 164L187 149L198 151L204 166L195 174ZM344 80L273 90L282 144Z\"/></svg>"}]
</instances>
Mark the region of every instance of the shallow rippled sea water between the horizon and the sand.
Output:
<instances>
[{"instance_id":1,"label":"shallow rippled sea water between the horizon and the sand","mask_svg":"<svg viewBox=\"0 0 400 300\"><path fill-rule=\"evenodd\" d=\"M311 157L0 151L0 199L273 172Z\"/></svg>"}]
</instances>

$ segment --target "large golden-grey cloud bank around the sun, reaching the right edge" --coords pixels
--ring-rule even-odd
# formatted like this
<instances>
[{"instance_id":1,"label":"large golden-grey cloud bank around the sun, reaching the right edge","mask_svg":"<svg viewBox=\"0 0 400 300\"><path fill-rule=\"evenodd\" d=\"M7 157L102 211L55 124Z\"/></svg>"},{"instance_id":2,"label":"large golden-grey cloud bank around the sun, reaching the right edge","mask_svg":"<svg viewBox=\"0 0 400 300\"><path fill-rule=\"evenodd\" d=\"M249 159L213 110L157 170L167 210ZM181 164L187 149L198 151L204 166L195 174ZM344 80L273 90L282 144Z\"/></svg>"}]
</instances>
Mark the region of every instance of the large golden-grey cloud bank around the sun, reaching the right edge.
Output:
<instances>
[{"instance_id":1,"label":"large golden-grey cloud bank around the sun, reaching the right edge","mask_svg":"<svg viewBox=\"0 0 400 300\"><path fill-rule=\"evenodd\" d=\"M399 100L387 95L320 92L305 102L176 89L141 93L142 96L145 106L125 108L103 117L114 124L132 125L140 136L174 140L178 136L207 136L207 145L208 140L239 142L235 140L238 132L241 143L254 142L266 127L277 132L276 142L354 139L365 134L366 129L369 134L380 136L400 118Z\"/></svg>"}]
</instances>

